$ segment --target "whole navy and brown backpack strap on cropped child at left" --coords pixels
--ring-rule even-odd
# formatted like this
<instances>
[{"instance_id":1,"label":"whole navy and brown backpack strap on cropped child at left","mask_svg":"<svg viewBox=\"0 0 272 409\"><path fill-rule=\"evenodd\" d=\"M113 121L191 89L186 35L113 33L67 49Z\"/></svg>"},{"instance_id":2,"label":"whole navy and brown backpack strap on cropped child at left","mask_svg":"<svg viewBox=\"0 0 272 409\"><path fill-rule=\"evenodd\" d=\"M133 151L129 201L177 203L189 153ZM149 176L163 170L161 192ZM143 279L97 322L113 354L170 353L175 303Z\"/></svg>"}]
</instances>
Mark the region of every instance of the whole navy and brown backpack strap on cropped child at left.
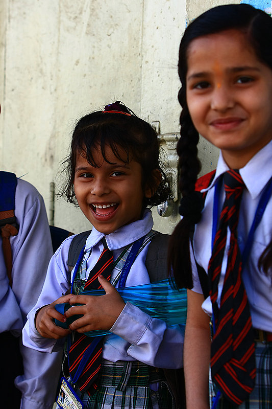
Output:
<instances>
[{"instance_id":1,"label":"whole navy and brown backpack strap on cropped child at left","mask_svg":"<svg viewBox=\"0 0 272 409\"><path fill-rule=\"evenodd\" d=\"M18 234L19 226L15 217L15 191L17 177L15 173L0 172L0 233L9 284L12 286L12 250L10 236Z\"/></svg>"}]
</instances>

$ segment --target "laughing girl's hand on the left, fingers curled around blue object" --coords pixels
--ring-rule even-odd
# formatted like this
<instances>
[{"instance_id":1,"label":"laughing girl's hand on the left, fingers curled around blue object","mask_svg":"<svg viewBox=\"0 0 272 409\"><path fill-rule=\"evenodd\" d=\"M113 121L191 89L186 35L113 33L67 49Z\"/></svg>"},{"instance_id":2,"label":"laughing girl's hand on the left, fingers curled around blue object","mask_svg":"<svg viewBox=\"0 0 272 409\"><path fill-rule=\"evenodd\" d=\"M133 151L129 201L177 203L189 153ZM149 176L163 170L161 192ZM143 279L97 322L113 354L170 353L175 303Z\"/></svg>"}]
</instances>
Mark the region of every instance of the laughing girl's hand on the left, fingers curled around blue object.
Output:
<instances>
[{"instance_id":1,"label":"laughing girl's hand on the left, fingers curled around blue object","mask_svg":"<svg viewBox=\"0 0 272 409\"><path fill-rule=\"evenodd\" d=\"M58 321L66 322L65 316L55 309L55 305L68 303L71 297L74 297L73 294L60 297L54 301L54 303L45 305L38 310L35 316L35 326L41 336L44 338L59 339L70 333L68 329L58 327L53 319L56 318Z\"/></svg>"}]
</instances>

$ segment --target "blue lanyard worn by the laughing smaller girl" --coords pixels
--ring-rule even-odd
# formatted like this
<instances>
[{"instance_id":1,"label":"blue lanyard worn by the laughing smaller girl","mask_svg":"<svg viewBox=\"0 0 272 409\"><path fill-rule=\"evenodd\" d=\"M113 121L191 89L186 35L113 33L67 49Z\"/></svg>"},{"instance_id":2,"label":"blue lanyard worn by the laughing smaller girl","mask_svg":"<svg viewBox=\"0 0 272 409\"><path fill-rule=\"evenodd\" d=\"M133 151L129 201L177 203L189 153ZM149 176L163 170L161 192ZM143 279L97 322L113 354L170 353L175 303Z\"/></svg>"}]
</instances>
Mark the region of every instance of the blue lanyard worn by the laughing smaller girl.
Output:
<instances>
[{"instance_id":1,"label":"blue lanyard worn by the laughing smaller girl","mask_svg":"<svg viewBox=\"0 0 272 409\"><path fill-rule=\"evenodd\" d=\"M126 280L128 278L131 266L134 263L134 260L135 260L137 254L138 254L138 251L139 251L139 249L140 249L140 247L141 247L141 245L142 245L142 243L144 241L144 238L145 238L145 236L141 237L140 239L136 240L133 243L132 249L131 249L131 251L130 251L128 257L127 257L125 265L122 268L121 277L120 277L119 282L118 282L118 288L121 288L121 287L125 286L125 283L126 283ZM72 284L71 284L71 293L72 293L72 289L73 289L73 282L75 281L75 278L77 276L77 272L78 272L80 263L82 262L83 257L84 257L84 249L85 249L85 246L82 248L82 250L80 252L77 264L75 266L75 270L73 272ZM72 380L73 383L77 382L77 380L79 379L83 369L85 368L86 363L88 362L90 356L92 355L92 352L94 351L96 345L103 338L104 338L104 335L103 336L97 336L97 337L93 338L91 344L89 345L89 347L87 348L87 350L83 354L83 357L81 359L80 365L79 365L79 367L77 369L77 372L76 372L75 376L73 378L71 377L71 380ZM69 367L70 367L70 362L69 362L70 347L71 347L71 336L69 335L67 337L67 358L68 358Z\"/></svg>"}]
</instances>

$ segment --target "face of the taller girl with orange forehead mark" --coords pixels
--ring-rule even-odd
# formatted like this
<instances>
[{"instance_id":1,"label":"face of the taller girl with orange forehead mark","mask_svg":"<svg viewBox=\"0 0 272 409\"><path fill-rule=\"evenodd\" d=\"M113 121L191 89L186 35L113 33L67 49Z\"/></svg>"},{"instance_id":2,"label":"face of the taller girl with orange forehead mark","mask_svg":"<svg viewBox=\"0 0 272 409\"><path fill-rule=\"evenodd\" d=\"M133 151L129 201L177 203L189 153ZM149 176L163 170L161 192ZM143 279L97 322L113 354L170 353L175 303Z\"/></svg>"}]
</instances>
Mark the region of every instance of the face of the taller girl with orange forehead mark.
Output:
<instances>
[{"instance_id":1,"label":"face of the taller girl with orange forehead mark","mask_svg":"<svg viewBox=\"0 0 272 409\"><path fill-rule=\"evenodd\" d=\"M272 71L233 29L192 40L187 64L195 128L231 168L243 167L272 138Z\"/></svg>"}]
</instances>

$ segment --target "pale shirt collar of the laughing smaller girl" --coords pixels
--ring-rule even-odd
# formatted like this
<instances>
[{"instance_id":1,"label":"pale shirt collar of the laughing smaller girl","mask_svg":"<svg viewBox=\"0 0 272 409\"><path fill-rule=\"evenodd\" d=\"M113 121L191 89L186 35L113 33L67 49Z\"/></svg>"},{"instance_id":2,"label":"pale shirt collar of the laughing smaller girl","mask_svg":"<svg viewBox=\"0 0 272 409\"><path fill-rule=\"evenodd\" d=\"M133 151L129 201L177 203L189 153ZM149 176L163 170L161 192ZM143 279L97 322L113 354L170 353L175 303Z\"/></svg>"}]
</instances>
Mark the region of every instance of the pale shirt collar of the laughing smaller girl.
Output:
<instances>
[{"instance_id":1,"label":"pale shirt collar of the laughing smaller girl","mask_svg":"<svg viewBox=\"0 0 272 409\"><path fill-rule=\"evenodd\" d=\"M150 209L145 209L142 219L121 226L115 232L106 236L106 242L110 250L116 250L133 243L140 237L145 236L153 228L153 218ZM95 246L104 237L104 233L98 232L94 227L88 236L85 251Z\"/></svg>"}]
</instances>

